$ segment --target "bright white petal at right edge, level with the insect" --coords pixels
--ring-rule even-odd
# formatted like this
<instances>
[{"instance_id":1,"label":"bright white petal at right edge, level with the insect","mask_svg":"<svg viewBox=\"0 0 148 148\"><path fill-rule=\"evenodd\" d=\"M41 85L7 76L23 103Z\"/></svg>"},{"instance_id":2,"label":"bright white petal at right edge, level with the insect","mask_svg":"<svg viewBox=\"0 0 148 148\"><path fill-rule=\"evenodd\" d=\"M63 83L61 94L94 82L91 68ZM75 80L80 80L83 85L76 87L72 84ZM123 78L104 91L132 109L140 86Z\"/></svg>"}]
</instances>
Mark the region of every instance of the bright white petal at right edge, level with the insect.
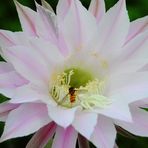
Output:
<instances>
[{"instance_id":1,"label":"bright white petal at right edge, level with the insect","mask_svg":"<svg viewBox=\"0 0 148 148\"><path fill-rule=\"evenodd\" d=\"M126 82L119 83L119 88L111 92L110 96L113 99L118 98L124 100L127 104L144 99L148 97L148 73L139 72L129 76ZM125 80L125 79L124 79ZM129 80L129 82L128 82Z\"/></svg>"}]
</instances>

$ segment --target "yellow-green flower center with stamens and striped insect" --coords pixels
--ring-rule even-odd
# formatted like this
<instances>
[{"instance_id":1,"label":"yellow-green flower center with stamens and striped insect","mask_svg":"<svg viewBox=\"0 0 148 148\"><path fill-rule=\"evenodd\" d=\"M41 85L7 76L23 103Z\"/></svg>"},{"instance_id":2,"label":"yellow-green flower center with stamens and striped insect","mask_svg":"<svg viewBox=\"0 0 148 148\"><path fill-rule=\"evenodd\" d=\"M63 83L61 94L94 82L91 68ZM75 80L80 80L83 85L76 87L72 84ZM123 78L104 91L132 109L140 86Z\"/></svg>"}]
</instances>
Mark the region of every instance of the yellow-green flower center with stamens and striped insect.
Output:
<instances>
[{"instance_id":1,"label":"yellow-green flower center with stamens and striped insect","mask_svg":"<svg viewBox=\"0 0 148 148\"><path fill-rule=\"evenodd\" d=\"M105 79L96 79L79 68L71 68L57 75L50 93L63 107L81 106L83 109L104 108L111 102L103 95Z\"/></svg>"}]
</instances>

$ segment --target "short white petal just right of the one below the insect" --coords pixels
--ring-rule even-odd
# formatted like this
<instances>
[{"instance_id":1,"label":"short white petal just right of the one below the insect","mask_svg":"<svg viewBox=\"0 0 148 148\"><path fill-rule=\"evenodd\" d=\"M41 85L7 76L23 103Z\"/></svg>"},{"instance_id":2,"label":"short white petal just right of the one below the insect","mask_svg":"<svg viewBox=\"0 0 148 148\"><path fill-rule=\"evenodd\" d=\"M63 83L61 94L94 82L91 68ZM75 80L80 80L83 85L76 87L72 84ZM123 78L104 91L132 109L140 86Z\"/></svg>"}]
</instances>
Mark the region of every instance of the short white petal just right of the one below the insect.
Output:
<instances>
[{"instance_id":1,"label":"short white petal just right of the one below the insect","mask_svg":"<svg viewBox=\"0 0 148 148\"><path fill-rule=\"evenodd\" d=\"M90 139L97 123L97 114L90 112L77 112L73 127L84 137Z\"/></svg>"}]
</instances>

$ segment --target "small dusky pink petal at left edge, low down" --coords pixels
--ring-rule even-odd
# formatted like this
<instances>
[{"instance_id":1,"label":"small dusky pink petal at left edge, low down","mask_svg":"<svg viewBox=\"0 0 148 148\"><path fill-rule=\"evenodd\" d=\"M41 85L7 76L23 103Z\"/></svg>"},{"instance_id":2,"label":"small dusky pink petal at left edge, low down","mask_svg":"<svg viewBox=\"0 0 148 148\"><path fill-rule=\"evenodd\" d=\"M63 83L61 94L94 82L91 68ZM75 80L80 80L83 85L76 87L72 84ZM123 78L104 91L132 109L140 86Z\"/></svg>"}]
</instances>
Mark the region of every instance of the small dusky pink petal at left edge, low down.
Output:
<instances>
[{"instance_id":1,"label":"small dusky pink petal at left edge, low down","mask_svg":"<svg viewBox=\"0 0 148 148\"><path fill-rule=\"evenodd\" d=\"M6 121L9 112L19 107L20 104L12 104L7 102L0 104L0 121Z\"/></svg>"}]
</instances>

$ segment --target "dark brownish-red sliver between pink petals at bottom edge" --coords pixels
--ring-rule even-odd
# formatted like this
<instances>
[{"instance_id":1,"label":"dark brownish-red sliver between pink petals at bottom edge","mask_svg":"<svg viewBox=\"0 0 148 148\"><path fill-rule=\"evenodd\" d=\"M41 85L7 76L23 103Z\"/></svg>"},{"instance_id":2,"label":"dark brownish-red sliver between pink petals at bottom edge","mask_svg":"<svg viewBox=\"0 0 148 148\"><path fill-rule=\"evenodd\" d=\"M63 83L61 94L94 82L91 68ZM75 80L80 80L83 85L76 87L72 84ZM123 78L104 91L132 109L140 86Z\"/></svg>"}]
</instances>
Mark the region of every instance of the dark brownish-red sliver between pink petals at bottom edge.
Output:
<instances>
[{"instance_id":1,"label":"dark brownish-red sliver between pink petals at bottom edge","mask_svg":"<svg viewBox=\"0 0 148 148\"><path fill-rule=\"evenodd\" d=\"M89 148L88 140L80 134L78 134L78 143L79 148Z\"/></svg>"}]
</instances>

